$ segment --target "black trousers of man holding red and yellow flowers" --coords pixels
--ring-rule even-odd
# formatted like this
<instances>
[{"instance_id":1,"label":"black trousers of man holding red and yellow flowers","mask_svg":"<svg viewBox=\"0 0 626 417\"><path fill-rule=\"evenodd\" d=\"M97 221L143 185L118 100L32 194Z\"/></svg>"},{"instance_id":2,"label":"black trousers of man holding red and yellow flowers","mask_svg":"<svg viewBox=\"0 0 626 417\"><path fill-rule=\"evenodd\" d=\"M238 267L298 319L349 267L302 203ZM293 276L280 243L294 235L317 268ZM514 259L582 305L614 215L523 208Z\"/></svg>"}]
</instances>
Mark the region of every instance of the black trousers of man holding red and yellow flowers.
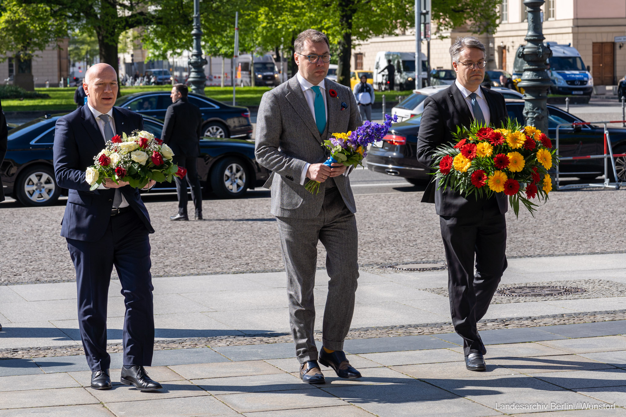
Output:
<instances>
[{"instance_id":1,"label":"black trousers of man holding red and yellow flowers","mask_svg":"<svg viewBox=\"0 0 626 417\"><path fill-rule=\"evenodd\" d=\"M463 338L467 356L483 348L476 322L487 313L507 266L505 215L493 200L467 216L439 216L439 223L448 261L452 324Z\"/></svg>"}]
</instances>

